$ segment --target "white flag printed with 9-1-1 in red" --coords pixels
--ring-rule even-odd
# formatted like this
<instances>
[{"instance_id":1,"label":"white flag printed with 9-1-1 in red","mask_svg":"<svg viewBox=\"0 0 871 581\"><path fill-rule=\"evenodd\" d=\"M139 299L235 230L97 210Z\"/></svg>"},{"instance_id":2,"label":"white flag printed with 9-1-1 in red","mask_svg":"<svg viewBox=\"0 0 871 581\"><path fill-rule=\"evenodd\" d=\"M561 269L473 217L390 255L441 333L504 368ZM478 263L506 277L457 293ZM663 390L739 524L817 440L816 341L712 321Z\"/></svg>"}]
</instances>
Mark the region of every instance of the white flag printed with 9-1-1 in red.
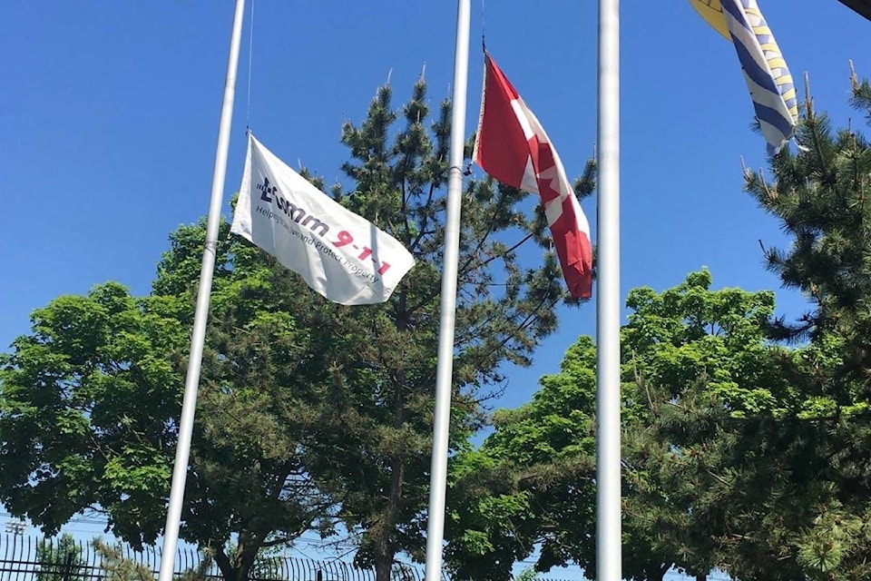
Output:
<instances>
[{"instance_id":1,"label":"white flag printed with 9-1-1 in red","mask_svg":"<svg viewBox=\"0 0 871 581\"><path fill-rule=\"evenodd\" d=\"M401 242L318 190L250 133L230 231L343 305L384 302L415 265Z\"/></svg>"}]
</instances>

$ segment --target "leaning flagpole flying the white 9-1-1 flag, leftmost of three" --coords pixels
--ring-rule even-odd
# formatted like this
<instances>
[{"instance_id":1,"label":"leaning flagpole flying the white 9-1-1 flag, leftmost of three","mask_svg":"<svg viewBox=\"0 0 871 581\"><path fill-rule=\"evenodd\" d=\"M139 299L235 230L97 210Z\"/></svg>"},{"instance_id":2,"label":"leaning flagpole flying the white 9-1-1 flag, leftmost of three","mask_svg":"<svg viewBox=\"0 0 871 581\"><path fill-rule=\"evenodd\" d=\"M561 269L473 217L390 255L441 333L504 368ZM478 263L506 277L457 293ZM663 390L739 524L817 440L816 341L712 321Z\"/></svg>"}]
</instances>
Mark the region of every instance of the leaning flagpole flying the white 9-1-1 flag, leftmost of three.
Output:
<instances>
[{"instance_id":1,"label":"leaning flagpole flying the white 9-1-1 flag, leftmost of three","mask_svg":"<svg viewBox=\"0 0 871 581\"><path fill-rule=\"evenodd\" d=\"M184 399L181 403L179 441L175 450L175 466L172 469L170 506L166 514L166 527L163 530L161 571L158 581L171 581L172 571L175 568L175 552L179 542L181 505L184 500L184 484L188 473L188 458L191 453L193 418L197 406L197 391L200 389L202 348L206 339L206 321L209 318L211 279L215 271L215 252L218 247L220 204L223 202L224 178L227 174L227 153L230 149L230 124L233 119L233 99L236 94L236 69L239 66L239 46L244 12L245 0L236 0L236 11L233 16L233 32L230 36L230 60L227 64L227 78L224 82L224 101L220 109L218 148L215 153L215 169L211 178L211 201L209 204L209 220L206 225L206 241L202 251L200 288L197 293L197 306L193 316L191 351L188 357L188 372L184 384Z\"/></svg>"}]
</instances>

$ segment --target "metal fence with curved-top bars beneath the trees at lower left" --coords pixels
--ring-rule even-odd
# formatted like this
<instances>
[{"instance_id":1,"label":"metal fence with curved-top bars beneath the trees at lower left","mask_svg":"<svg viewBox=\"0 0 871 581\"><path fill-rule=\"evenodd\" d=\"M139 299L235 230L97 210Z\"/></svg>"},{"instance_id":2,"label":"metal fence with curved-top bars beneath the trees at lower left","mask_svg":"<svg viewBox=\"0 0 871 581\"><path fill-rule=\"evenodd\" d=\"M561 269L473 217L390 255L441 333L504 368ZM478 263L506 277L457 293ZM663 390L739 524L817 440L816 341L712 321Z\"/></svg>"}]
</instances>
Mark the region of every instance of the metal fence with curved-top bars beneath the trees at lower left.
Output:
<instances>
[{"instance_id":1,"label":"metal fence with curved-top bars beneath the trees at lower left","mask_svg":"<svg viewBox=\"0 0 871 581\"><path fill-rule=\"evenodd\" d=\"M134 551L125 544L106 543L119 556L152 571L157 576L161 566L160 550L145 547ZM106 581L117 577L109 573L103 556L92 543L57 538L0 537L0 581ZM191 548L180 548L175 558L176 576L201 570L205 578L219 581L218 566ZM358 569L346 561L317 561L289 556L259 559L252 568L250 581L375 581L375 571ZM394 581L423 581L423 567L396 564ZM121 580L116 580L121 581ZM445 577L446 581L446 577Z\"/></svg>"}]
</instances>

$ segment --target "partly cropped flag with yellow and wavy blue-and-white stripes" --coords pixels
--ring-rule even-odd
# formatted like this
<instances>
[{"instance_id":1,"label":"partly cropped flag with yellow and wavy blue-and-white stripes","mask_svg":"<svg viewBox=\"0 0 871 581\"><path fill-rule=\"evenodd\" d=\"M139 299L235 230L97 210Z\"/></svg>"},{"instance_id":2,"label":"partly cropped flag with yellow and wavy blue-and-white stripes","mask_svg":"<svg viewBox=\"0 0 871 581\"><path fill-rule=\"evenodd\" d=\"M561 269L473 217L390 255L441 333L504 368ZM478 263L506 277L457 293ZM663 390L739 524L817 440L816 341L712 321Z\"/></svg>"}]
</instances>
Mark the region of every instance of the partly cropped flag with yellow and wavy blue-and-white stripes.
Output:
<instances>
[{"instance_id":1,"label":"partly cropped flag with yellow and wavy blue-and-white stripes","mask_svg":"<svg viewBox=\"0 0 871 581\"><path fill-rule=\"evenodd\" d=\"M795 132L798 99L787 63L756 0L690 0L690 4L735 44L768 153L778 153Z\"/></svg>"}]
</instances>

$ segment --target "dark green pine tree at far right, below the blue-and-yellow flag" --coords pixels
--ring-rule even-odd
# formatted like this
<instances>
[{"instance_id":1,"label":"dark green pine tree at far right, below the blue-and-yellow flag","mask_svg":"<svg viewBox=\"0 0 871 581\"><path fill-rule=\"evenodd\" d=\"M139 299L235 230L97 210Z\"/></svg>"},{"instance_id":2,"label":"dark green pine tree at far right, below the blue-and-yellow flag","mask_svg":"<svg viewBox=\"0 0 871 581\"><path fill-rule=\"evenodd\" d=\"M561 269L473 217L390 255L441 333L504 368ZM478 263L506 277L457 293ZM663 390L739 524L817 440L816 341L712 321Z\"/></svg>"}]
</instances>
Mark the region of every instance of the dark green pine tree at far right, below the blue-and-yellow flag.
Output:
<instances>
[{"instance_id":1,"label":"dark green pine tree at far right, below the blue-and-yellow flag","mask_svg":"<svg viewBox=\"0 0 871 581\"><path fill-rule=\"evenodd\" d=\"M869 118L871 87L855 74L852 103ZM667 447L656 474L667 477L669 502L686 507L670 512L678 518L661 530L684 539L678 562L697 573L719 565L738 578L869 575L871 150L852 127L833 132L809 96L798 142L804 149L771 159L773 180L746 177L792 238L787 251L766 250L768 267L803 291L811 310L787 321L760 304L738 334L720 322L739 343L727 345L728 359L716 366L693 364L710 359L674 349L675 336L655 318L647 347L633 350L654 412L637 434L650 436L645 448ZM755 347L742 349L745 342Z\"/></svg>"}]
</instances>

